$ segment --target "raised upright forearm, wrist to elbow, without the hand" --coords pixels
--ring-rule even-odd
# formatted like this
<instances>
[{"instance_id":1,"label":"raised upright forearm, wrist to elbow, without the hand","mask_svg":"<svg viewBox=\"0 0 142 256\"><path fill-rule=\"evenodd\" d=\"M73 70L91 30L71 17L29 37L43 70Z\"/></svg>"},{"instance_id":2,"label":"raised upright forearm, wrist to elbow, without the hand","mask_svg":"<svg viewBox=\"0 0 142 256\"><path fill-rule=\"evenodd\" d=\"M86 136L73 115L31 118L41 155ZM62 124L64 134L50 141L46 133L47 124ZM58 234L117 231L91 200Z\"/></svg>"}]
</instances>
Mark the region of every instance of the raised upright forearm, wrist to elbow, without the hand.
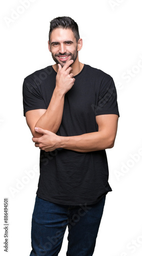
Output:
<instances>
[{"instance_id":1,"label":"raised upright forearm, wrist to elbow, without the hand","mask_svg":"<svg viewBox=\"0 0 142 256\"><path fill-rule=\"evenodd\" d=\"M64 94L57 91L55 88L48 109L39 118L35 127L41 127L44 130L57 133L62 121L63 106Z\"/></svg>"}]
</instances>

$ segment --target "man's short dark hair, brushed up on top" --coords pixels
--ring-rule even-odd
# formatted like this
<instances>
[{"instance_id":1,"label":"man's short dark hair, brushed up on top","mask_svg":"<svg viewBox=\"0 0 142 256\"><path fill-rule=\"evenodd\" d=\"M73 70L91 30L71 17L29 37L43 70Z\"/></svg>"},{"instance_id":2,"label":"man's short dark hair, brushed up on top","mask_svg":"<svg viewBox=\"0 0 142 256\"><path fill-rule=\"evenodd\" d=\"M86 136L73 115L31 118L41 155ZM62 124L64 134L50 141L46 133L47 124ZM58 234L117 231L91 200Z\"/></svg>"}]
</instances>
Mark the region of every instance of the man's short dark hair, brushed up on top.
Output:
<instances>
[{"instance_id":1,"label":"man's short dark hair, brushed up on top","mask_svg":"<svg viewBox=\"0 0 142 256\"><path fill-rule=\"evenodd\" d=\"M80 38L79 29L78 29L78 25L74 19L72 19L70 17L66 17L66 16L52 19L50 22L49 40L50 40L52 31L57 28L72 29L72 31L75 35L76 41L78 42L78 40Z\"/></svg>"}]
</instances>

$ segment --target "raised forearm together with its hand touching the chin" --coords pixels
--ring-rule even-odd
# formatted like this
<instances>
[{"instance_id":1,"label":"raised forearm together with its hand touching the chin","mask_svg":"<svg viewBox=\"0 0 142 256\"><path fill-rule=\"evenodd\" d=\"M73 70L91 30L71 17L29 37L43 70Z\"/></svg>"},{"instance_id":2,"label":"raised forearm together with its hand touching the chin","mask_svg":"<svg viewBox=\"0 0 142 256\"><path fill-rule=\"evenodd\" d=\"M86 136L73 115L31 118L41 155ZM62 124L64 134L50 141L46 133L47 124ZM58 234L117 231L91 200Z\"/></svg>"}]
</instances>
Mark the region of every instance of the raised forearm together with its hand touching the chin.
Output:
<instances>
[{"instance_id":1,"label":"raised forearm together with its hand touching the chin","mask_svg":"<svg viewBox=\"0 0 142 256\"><path fill-rule=\"evenodd\" d=\"M42 112L42 115L37 118L36 123L34 123L34 129L32 129L34 130L32 133L34 137L36 137L36 135L40 136L35 132L35 127L40 127L43 130L48 130L55 134L57 133L62 121L64 95L73 87L75 82L73 73L70 73L73 69L69 67L73 62L74 61L70 59L65 63L63 68L58 64L56 87L48 109L44 113Z\"/></svg>"}]
</instances>

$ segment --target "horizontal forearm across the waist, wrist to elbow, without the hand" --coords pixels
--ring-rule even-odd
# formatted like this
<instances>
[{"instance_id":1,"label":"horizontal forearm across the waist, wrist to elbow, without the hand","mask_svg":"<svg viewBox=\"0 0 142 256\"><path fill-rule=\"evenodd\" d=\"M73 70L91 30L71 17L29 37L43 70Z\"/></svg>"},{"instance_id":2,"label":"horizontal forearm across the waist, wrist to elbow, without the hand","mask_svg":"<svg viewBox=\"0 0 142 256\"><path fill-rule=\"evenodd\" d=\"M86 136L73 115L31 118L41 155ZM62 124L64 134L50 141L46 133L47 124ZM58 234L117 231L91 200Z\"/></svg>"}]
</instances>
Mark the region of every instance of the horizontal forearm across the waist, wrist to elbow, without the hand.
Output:
<instances>
[{"instance_id":1,"label":"horizontal forearm across the waist, wrist to elbow, without the hand","mask_svg":"<svg viewBox=\"0 0 142 256\"><path fill-rule=\"evenodd\" d=\"M79 136L60 137L61 147L77 152L91 152L113 147L114 140L103 132L82 134Z\"/></svg>"}]
</instances>

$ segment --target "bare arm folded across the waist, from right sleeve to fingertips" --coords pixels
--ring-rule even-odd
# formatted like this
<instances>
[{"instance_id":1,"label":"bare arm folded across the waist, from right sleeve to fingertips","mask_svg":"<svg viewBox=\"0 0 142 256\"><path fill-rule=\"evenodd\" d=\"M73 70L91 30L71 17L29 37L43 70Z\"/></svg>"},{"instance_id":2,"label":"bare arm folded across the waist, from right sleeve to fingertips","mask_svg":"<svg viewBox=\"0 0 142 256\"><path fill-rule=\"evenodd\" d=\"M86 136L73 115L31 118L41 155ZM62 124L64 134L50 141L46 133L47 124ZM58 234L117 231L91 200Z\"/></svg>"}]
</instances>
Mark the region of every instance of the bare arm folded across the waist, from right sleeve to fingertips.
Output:
<instances>
[{"instance_id":1,"label":"bare arm folded across the waist, from right sleeve to fingertips","mask_svg":"<svg viewBox=\"0 0 142 256\"><path fill-rule=\"evenodd\" d=\"M114 145L118 118L117 115L113 114L97 116L98 132L70 137L58 136L51 131L35 127L36 133L41 137L34 137L32 140L36 147L45 152L54 151L59 147L82 153L104 150Z\"/></svg>"}]
</instances>

